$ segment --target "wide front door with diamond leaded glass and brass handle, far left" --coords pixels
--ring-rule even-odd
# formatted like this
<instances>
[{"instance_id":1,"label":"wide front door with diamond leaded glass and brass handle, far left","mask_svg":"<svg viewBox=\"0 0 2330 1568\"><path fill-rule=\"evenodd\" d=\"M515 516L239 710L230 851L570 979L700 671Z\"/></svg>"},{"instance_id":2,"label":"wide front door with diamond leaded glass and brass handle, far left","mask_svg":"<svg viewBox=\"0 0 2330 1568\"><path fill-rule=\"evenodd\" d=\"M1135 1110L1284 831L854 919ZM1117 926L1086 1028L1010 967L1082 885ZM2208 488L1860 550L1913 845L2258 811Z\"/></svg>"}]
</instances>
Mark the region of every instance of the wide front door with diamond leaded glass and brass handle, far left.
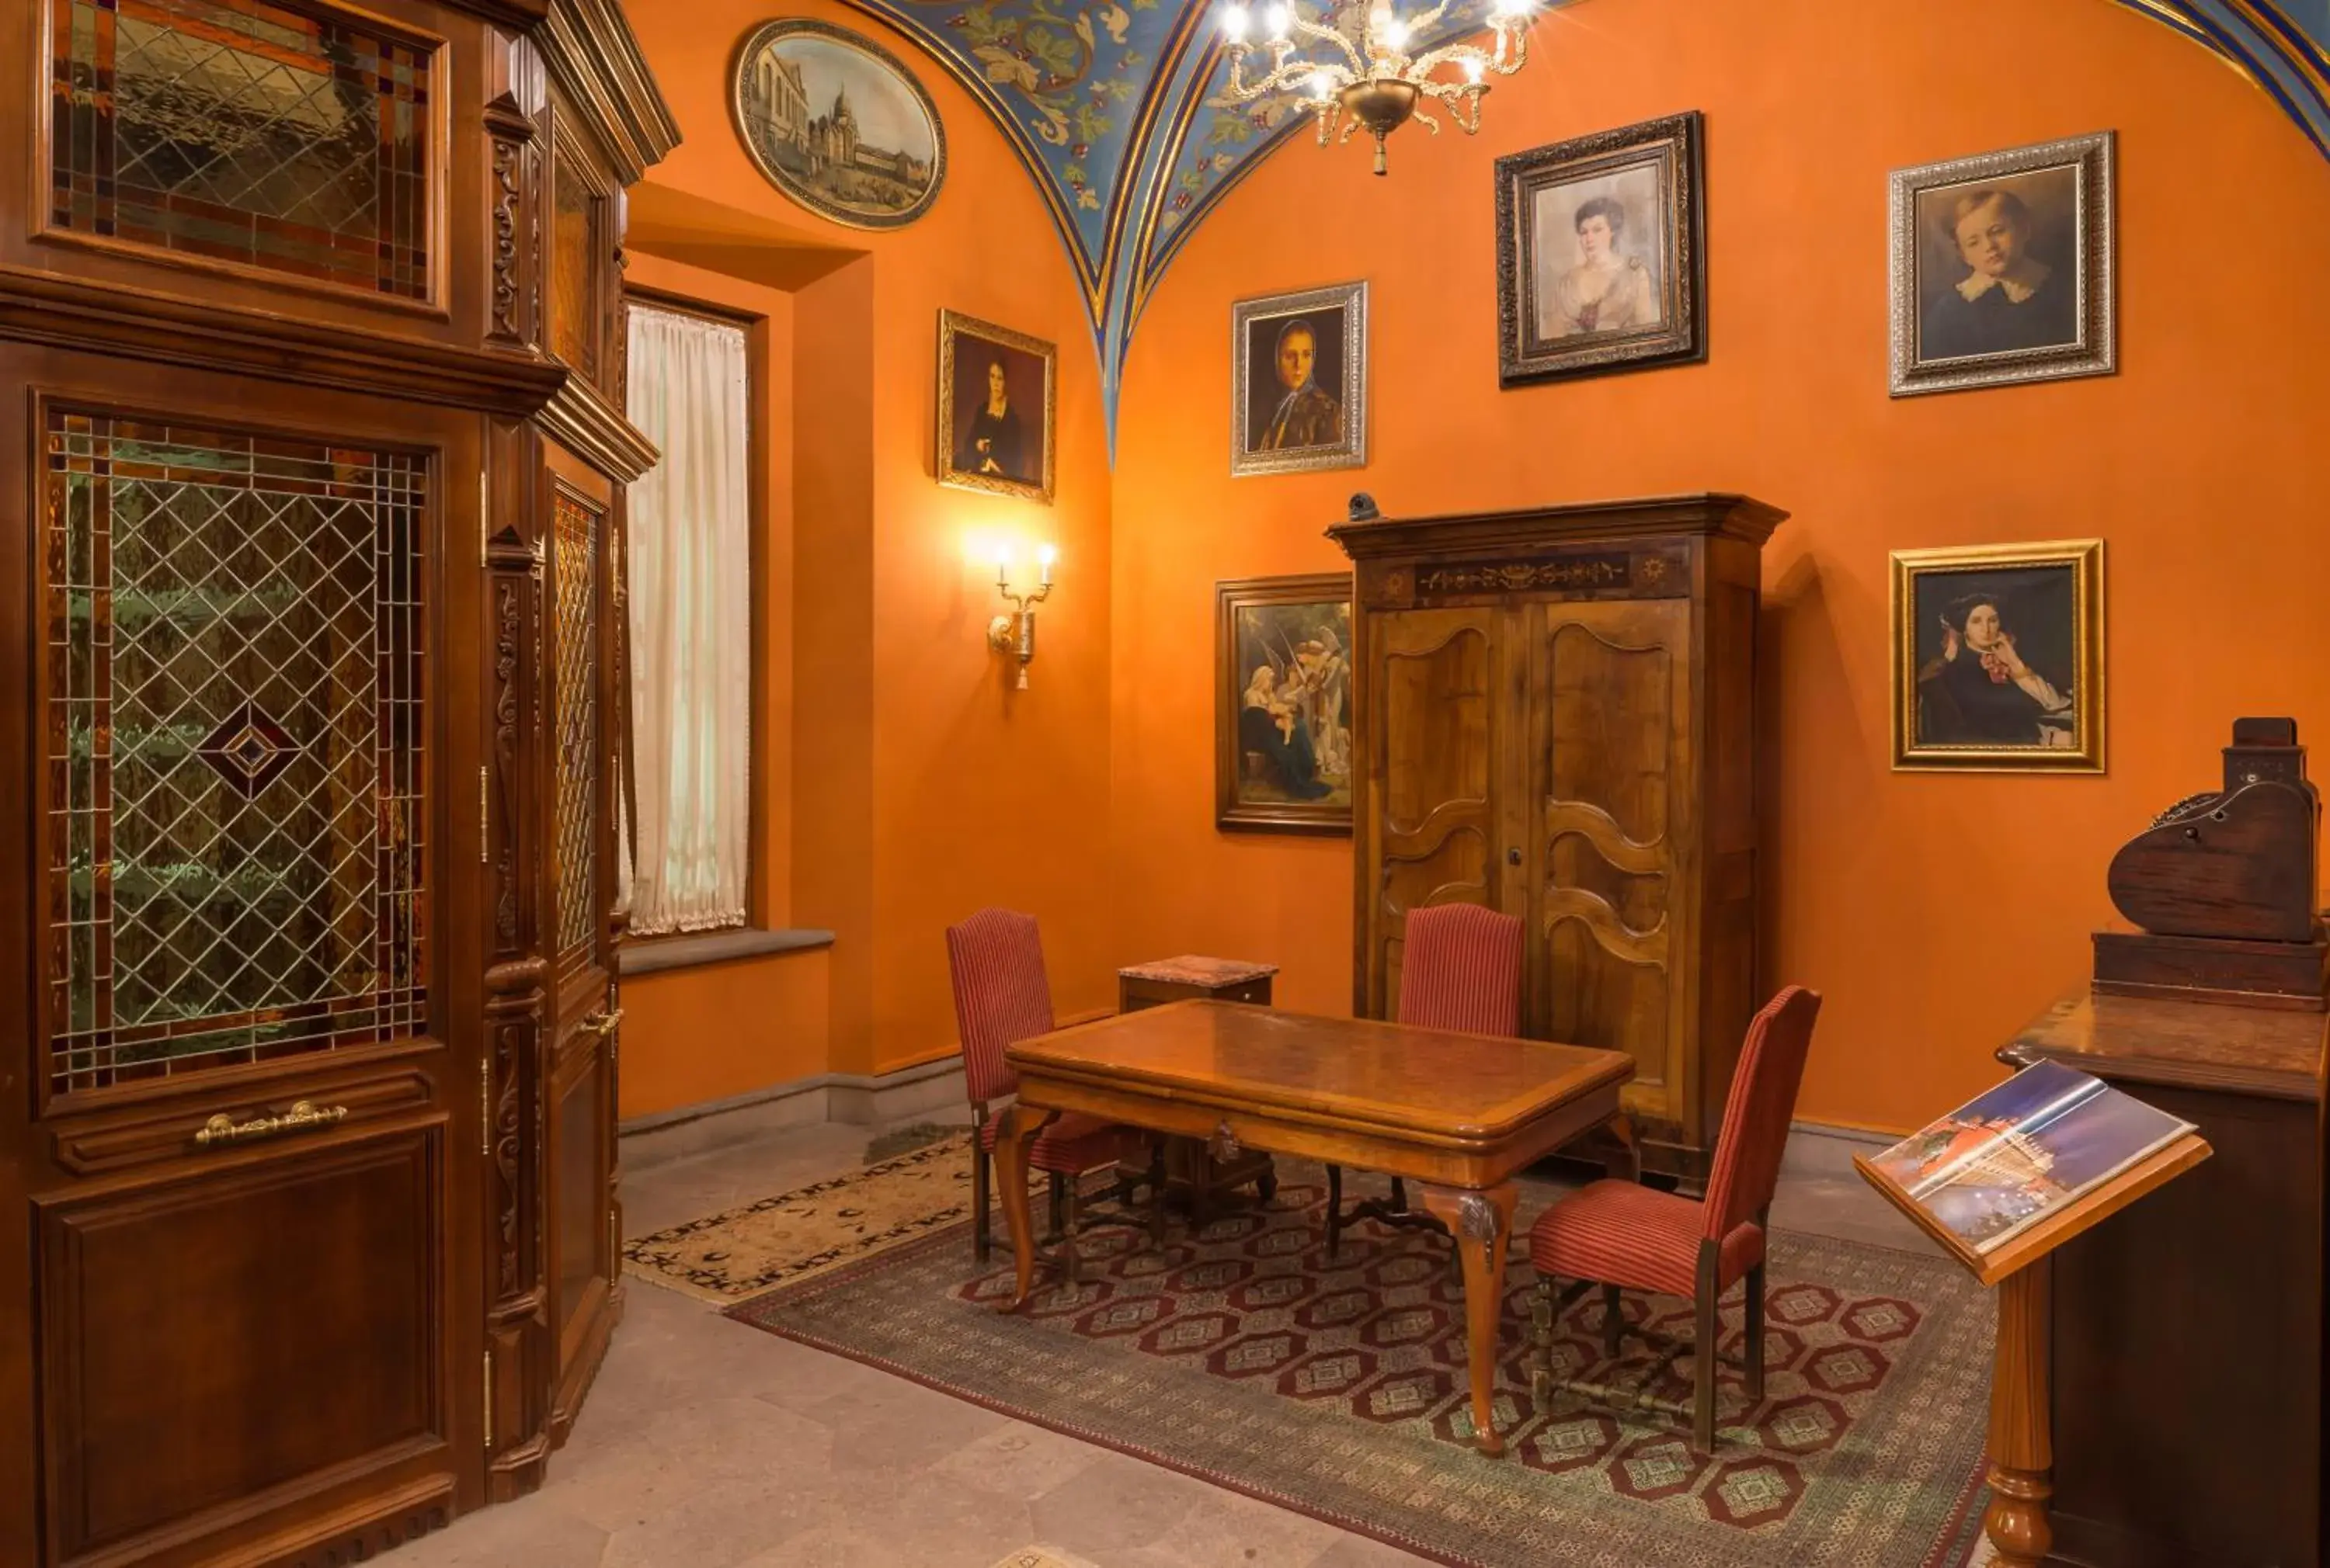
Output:
<instances>
[{"instance_id":1,"label":"wide front door with diamond leaded glass and brass handle, far left","mask_svg":"<svg viewBox=\"0 0 2330 1568\"><path fill-rule=\"evenodd\" d=\"M49 1566L361 1559L482 1486L475 419L0 384L0 1447Z\"/></svg>"}]
</instances>

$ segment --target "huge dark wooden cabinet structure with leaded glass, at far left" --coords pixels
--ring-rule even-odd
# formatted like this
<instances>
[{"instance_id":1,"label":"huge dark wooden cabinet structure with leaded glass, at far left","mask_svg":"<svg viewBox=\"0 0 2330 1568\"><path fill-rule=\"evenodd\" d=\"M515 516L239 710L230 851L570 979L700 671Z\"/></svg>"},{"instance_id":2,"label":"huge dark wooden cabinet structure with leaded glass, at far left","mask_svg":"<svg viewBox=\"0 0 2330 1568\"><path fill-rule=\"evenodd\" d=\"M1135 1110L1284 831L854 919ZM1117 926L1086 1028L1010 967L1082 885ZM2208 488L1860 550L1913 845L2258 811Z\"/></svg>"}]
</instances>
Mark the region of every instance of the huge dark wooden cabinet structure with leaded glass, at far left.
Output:
<instances>
[{"instance_id":1,"label":"huge dark wooden cabinet structure with leaded glass, at far left","mask_svg":"<svg viewBox=\"0 0 2330 1568\"><path fill-rule=\"evenodd\" d=\"M0 1563L529 1491L622 1309L615 0L0 14Z\"/></svg>"}]
</instances>

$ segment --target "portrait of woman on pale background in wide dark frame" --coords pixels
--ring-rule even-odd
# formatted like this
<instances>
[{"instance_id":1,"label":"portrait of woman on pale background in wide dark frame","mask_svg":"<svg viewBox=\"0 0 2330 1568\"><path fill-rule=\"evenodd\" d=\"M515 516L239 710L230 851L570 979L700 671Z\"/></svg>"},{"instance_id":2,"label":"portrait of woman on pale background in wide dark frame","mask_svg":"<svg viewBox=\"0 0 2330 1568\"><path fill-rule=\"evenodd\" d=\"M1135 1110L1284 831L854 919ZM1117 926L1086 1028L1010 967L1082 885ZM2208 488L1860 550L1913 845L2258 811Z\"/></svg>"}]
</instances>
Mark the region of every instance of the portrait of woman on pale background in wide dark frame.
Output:
<instances>
[{"instance_id":1,"label":"portrait of woman on pale background in wide dark frame","mask_svg":"<svg viewBox=\"0 0 2330 1568\"><path fill-rule=\"evenodd\" d=\"M1708 356L1699 112L1496 161L1498 384Z\"/></svg>"}]
</instances>

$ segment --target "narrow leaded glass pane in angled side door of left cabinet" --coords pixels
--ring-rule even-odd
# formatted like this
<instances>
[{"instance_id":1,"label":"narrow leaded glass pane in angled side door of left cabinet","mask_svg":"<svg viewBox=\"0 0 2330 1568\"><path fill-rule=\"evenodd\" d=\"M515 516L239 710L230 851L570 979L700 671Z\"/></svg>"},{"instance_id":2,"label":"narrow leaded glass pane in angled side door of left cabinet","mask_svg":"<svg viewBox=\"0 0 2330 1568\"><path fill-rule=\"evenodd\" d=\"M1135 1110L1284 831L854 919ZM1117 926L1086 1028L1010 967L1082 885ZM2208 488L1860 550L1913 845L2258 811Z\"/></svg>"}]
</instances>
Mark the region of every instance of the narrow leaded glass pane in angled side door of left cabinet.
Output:
<instances>
[{"instance_id":1,"label":"narrow leaded glass pane in angled side door of left cabinet","mask_svg":"<svg viewBox=\"0 0 2330 1568\"><path fill-rule=\"evenodd\" d=\"M559 953L599 932L599 513L564 489L557 541Z\"/></svg>"}]
</instances>

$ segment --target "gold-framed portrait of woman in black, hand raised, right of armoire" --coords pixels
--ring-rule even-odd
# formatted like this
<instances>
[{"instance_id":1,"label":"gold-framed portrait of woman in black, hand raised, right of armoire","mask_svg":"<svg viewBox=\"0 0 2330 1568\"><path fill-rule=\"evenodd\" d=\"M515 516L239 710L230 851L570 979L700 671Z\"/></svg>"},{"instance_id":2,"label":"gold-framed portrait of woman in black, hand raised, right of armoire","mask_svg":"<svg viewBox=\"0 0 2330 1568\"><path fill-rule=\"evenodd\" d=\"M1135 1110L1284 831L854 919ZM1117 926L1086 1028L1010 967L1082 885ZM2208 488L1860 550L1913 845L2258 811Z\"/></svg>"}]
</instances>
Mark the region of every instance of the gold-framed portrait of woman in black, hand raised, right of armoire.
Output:
<instances>
[{"instance_id":1,"label":"gold-framed portrait of woman in black, hand raised, right of armoire","mask_svg":"<svg viewBox=\"0 0 2330 1568\"><path fill-rule=\"evenodd\" d=\"M2104 541L1892 552L1894 769L2104 771Z\"/></svg>"}]
</instances>

